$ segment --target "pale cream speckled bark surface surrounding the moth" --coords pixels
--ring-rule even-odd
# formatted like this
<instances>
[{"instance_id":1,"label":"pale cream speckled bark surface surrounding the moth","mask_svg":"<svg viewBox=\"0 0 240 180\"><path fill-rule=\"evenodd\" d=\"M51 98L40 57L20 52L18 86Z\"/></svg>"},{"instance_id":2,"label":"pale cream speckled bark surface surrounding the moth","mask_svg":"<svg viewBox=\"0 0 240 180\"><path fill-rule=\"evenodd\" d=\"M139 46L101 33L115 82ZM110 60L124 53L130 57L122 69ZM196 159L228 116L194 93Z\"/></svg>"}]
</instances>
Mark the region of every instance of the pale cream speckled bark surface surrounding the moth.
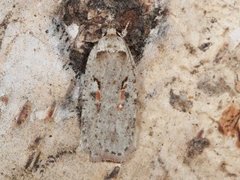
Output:
<instances>
[{"instance_id":1,"label":"pale cream speckled bark surface surrounding the moth","mask_svg":"<svg viewBox=\"0 0 240 180\"><path fill-rule=\"evenodd\" d=\"M138 147L123 164L91 163L78 148L81 87L63 53L72 42L59 40L52 20L59 6L0 2L0 179L240 176L239 1L167 3L167 34L151 31L136 68ZM68 27L72 39L77 32Z\"/></svg>"}]
</instances>

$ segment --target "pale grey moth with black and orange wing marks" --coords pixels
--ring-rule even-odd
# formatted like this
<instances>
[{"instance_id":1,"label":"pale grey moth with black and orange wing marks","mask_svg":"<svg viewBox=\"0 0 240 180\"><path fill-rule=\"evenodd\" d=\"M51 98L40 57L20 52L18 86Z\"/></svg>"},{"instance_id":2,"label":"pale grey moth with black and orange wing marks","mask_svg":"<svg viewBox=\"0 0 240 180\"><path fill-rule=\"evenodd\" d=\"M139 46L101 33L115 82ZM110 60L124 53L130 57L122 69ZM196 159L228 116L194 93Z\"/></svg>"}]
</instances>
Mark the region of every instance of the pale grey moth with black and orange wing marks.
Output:
<instances>
[{"instance_id":1,"label":"pale grey moth with black and orange wing marks","mask_svg":"<svg viewBox=\"0 0 240 180\"><path fill-rule=\"evenodd\" d=\"M81 147L93 162L121 163L136 147L136 76L129 48L108 29L81 79Z\"/></svg>"}]
</instances>

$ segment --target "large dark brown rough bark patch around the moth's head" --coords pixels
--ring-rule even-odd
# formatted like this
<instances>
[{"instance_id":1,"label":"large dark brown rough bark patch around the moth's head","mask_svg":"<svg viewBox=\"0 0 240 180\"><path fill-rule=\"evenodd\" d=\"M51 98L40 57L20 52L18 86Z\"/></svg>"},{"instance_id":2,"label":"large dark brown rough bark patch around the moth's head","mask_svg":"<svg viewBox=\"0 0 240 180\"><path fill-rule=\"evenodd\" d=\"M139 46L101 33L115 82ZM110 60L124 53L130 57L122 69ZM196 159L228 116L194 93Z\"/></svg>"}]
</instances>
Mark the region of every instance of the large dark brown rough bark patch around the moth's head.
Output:
<instances>
[{"instance_id":1,"label":"large dark brown rough bark patch around the moth's head","mask_svg":"<svg viewBox=\"0 0 240 180\"><path fill-rule=\"evenodd\" d=\"M72 47L70 50L70 65L77 76L85 71L86 61L93 47L93 44L88 43L97 42L107 28L114 27L118 32L122 32L129 23L125 41L135 62L138 62L142 57L146 38L151 29L160 22L157 17L162 17L165 21L169 14L165 7L157 7L148 12L138 0L90 0L86 3L80 0L68 0L63 3L61 12L62 20L67 26L76 23L83 28L81 32L85 37L85 44L81 49ZM166 29L160 27L159 31L164 35L162 31L165 32Z\"/></svg>"}]
</instances>

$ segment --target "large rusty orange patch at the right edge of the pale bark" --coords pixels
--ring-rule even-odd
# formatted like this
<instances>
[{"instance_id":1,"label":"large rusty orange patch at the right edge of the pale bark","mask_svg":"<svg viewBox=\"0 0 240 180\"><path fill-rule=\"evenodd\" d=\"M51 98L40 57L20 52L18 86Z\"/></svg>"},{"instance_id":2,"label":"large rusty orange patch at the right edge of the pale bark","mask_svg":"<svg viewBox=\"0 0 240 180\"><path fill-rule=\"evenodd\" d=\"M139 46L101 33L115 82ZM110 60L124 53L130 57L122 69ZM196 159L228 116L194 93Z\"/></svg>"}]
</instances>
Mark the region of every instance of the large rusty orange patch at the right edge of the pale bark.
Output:
<instances>
[{"instance_id":1,"label":"large rusty orange patch at the right edge of the pale bark","mask_svg":"<svg viewBox=\"0 0 240 180\"><path fill-rule=\"evenodd\" d=\"M237 104L231 104L222 113L219 120L218 130L226 136L237 136L237 146L240 147L240 131L239 131L240 107Z\"/></svg>"}]
</instances>

